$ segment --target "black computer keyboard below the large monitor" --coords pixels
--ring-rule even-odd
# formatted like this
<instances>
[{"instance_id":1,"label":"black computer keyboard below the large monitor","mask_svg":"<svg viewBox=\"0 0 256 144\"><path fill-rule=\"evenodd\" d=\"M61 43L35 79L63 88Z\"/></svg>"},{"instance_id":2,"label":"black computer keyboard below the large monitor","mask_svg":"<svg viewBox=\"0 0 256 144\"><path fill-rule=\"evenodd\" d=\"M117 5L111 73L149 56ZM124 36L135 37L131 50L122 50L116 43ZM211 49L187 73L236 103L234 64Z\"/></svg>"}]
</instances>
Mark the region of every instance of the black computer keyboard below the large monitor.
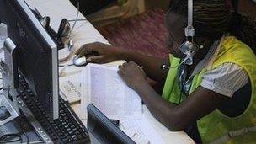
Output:
<instances>
[{"instance_id":1,"label":"black computer keyboard below the large monitor","mask_svg":"<svg viewBox=\"0 0 256 144\"><path fill-rule=\"evenodd\" d=\"M22 86L18 91L19 97L51 137L51 141L56 144L89 142L88 131L66 101L59 97L59 119L51 120L49 116L45 115L39 100L24 79L19 78L19 83Z\"/></svg>"}]
</instances>

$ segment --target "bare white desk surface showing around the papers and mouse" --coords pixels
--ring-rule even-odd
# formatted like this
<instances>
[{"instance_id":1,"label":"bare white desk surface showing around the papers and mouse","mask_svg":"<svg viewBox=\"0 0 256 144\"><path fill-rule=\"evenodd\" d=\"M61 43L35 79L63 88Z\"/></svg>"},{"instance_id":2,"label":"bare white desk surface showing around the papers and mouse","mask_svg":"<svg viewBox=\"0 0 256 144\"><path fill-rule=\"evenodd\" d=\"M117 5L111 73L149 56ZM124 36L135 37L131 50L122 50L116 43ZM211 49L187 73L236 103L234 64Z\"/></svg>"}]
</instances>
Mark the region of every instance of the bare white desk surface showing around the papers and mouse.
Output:
<instances>
[{"instance_id":1,"label":"bare white desk surface showing around the papers and mouse","mask_svg":"<svg viewBox=\"0 0 256 144\"><path fill-rule=\"evenodd\" d=\"M75 19L77 14L77 8L75 8L69 0L26 0L30 8L37 8L39 12L44 16L50 16L51 27L57 31L61 19ZM85 19L82 14L79 15L79 19ZM99 34L97 29L93 27L88 21L77 22L75 29L72 32L72 40L74 41L75 48L79 48L81 45L90 42L104 42L108 43L102 35ZM72 61L66 61L64 64L69 64ZM121 61L112 62L109 65L118 65ZM66 76L73 73L81 72L83 67L68 67L65 71ZM72 104L72 109L81 115L81 106L79 103ZM158 122L149 112L146 106L143 107L143 115L147 117L150 124L159 132L160 136L166 143L194 143L194 141L187 136L183 131L173 132L169 131L160 122ZM86 124L86 120L82 120Z\"/></svg>"}]
</instances>

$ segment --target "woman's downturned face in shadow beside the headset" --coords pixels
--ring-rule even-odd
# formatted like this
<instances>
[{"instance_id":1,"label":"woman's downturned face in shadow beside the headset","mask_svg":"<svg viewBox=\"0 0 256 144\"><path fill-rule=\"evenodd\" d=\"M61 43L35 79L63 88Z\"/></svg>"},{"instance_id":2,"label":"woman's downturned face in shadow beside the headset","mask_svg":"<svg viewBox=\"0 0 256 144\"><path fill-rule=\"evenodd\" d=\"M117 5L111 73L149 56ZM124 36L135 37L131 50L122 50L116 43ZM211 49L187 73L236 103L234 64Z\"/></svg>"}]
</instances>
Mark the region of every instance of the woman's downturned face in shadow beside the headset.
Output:
<instances>
[{"instance_id":1,"label":"woman's downturned face in shadow beside the headset","mask_svg":"<svg viewBox=\"0 0 256 144\"><path fill-rule=\"evenodd\" d=\"M168 29L168 50L175 57L184 57L184 54L179 50L179 46L185 40L184 28L186 27L186 18L179 13L169 12L166 16L165 23Z\"/></svg>"}]
</instances>

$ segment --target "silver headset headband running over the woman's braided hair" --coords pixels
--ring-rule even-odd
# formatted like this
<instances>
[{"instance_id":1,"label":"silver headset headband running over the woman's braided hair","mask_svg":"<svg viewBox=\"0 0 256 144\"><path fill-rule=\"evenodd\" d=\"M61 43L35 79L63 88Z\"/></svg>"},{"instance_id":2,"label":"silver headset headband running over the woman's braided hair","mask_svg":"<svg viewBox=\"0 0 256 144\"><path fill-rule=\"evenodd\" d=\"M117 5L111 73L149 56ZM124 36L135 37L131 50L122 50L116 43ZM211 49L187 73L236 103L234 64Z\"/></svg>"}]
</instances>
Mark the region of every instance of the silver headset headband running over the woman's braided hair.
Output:
<instances>
[{"instance_id":1,"label":"silver headset headband running over the woman's braided hair","mask_svg":"<svg viewBox=\"0 0 256 144\"><path fill-rule=\"evenodd\" d=\"M188 2L188 26L185 28L185 36L193 37L195 35L195 29L193 27L193 0Z\"/></svg>"}]
</instances>

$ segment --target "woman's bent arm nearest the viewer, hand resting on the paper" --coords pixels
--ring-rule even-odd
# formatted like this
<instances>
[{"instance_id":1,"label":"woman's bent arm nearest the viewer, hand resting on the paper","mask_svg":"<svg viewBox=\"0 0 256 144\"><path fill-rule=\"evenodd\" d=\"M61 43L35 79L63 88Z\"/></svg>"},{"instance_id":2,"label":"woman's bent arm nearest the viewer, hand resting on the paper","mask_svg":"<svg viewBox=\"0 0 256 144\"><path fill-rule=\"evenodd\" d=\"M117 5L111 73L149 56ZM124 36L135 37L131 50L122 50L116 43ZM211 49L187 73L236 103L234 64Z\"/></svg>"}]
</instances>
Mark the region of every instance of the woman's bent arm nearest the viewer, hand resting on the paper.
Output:
<instances>
[{"instance_id":1,"label":"woman's bent arm nearest the viewer, hand resting on the paper","mask_svg":"<svg viewBox=\"0 0 256 144\"><path fill-rule=\"evenodd\" d=\"M229 100L221 94L199 87L184 102L175 105L169 103L154 91L135 62L120 66L119 74L125 83L140 95L152 115L171 131L184 130L188 125L210 114Z\"/></svg>"}]
</instances>

